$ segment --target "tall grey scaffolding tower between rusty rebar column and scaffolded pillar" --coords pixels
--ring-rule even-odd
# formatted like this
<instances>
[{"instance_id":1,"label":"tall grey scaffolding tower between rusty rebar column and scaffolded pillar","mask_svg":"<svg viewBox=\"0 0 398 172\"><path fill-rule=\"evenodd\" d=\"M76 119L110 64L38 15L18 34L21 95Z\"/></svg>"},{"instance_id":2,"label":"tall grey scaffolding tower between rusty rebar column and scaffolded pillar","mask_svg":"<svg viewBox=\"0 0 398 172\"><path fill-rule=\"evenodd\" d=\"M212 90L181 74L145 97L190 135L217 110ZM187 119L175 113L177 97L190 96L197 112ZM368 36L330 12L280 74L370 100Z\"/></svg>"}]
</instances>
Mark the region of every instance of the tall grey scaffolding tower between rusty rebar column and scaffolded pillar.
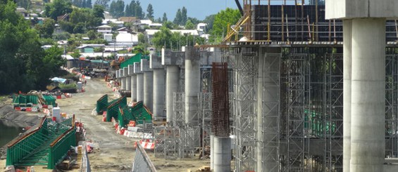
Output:
<instances>
[{"instance_id":1,"label":"tall grey scaffolding tower between rusty rebar column and scaffolded pillar","mask_svg":"<svg viewBox=\"0 0 398 172\"><path fill-rule=\"evenodd\" d=\"M229 64L234 70L234 121L232 133L235 170L256 169L256 77L258 49L232 48Z\"/></svg>"}]
</instances>

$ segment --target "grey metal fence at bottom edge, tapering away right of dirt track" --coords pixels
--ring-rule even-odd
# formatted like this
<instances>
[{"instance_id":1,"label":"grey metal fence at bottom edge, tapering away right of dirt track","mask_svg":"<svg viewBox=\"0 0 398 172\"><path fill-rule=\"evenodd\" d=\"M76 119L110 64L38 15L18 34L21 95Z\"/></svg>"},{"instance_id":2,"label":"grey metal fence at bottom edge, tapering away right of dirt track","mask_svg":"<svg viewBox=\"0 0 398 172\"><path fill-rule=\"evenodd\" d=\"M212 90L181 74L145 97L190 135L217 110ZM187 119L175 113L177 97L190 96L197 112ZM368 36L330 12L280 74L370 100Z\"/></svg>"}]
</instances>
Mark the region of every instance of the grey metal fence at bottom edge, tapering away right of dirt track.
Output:
<instances>
[{"instance_id":1,"label":"grey metal fence at bottom edge, tapering away right of dirt track","mask_svg":"<svg viewBox=\"0 0 398 172\"><path fill-rule=\"evenodd\" d=\"M145 152L144 147L142 147L142 145L140 144L137 144L137 149L135 150L135 159L132 163L132 171L156 172L154 164L152 164L152 161L151 159L149 159L147 152Z\"/></svg>"}]
</instances>

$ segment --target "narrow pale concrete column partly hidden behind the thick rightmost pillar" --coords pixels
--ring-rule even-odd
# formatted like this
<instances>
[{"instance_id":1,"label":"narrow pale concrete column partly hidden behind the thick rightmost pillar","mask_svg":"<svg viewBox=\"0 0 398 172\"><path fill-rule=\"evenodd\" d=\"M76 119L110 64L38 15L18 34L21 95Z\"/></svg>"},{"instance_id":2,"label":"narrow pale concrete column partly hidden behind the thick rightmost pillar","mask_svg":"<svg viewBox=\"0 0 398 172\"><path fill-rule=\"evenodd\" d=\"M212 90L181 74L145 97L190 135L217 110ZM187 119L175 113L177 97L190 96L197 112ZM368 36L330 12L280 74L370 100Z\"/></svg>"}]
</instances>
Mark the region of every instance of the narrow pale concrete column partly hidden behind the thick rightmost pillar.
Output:
<instances>
[{"instance_id":1,"label":"narrow pale concrete column partly hidden behind the thick rightmost pillar","mask_svg":"<svg viewBox=\"0 0 398 172\"><path fill-rule=\"evenodd\" d=\"M343 171L349 172L349 160L351 157L351 20L343 20L343 30Z\"/></svg>"}]
</instances>

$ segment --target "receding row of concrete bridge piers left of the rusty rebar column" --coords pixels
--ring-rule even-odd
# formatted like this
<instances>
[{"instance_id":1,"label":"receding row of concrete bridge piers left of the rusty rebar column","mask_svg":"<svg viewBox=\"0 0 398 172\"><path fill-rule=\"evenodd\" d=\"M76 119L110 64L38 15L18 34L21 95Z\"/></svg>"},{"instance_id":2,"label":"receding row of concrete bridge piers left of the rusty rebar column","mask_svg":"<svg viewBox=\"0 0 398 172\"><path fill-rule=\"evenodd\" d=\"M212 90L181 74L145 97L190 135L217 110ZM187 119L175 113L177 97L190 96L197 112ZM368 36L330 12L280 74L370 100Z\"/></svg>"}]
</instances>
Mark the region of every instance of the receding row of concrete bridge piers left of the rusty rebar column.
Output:
<instances>
[{"instance_id":1,"label":"receding row of concrete bridge piers left of the rusty rebar column","mask_svg":"<svg viewBox=\"0 0 398 172\"><path fill-rule=\"evenodd\" d=\"M187 48L188 49L188 48ZM175 52L150 56L116 72L122 90L130 91L133 102L143 101L154 114L155 121L172 122L173 94L178 92L180 66L185 65L185 122L197 125L200 86L199 53ZM189 51L189 52L194 52ZM194 55L197 55L194 57ZM185 58L187 56L187 58ZM165 112L166 108L166 113Z\"/></svg>"}]
</instances>

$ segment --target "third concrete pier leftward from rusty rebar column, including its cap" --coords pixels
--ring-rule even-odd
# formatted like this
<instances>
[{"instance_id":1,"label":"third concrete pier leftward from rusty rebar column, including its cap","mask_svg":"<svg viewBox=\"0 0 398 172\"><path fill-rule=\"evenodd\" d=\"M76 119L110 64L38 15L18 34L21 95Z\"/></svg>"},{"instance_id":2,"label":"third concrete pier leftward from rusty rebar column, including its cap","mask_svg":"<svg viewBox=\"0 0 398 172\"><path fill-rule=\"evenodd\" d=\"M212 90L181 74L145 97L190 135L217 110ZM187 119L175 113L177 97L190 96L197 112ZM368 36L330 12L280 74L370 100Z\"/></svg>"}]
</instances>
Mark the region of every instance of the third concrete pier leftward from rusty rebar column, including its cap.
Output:
<instances>
[{"instance_id":1,"label":"third concrete pier leftward from rusty rebar column, including its cap","mask_svg":"<svg viewBox=\"0 0 398 172\"><path fill-rule=\"evenodd\" d=\"M166 95L166 73L160 56L152 54L149 62L151 69L154 70L154 110L152 112L156 121L163 121L165 119L163 110Z\"/></svg>"}]
</instances>

